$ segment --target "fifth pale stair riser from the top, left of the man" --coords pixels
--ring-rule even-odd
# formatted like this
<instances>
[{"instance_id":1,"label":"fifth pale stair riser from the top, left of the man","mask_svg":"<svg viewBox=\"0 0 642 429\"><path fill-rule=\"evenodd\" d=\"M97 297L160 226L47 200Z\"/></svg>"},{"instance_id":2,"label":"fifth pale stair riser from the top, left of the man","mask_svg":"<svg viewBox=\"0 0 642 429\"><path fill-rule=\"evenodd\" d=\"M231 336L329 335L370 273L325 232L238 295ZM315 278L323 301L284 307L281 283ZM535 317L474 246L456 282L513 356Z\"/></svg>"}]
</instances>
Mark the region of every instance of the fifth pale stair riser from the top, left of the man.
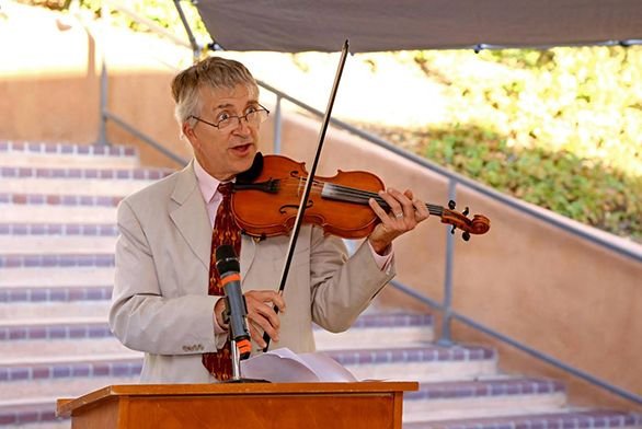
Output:
<instances>
[{"instance_id":1,"label":"fifth pale stair riser from the top, left of the man","mask_svg":"<svg viewBox=\"0 0 642 429\"><path fill-rule=\"evenodd\" d=\"M113 285L114 267L0 268L0 290L3 288L57 288Z\"/></svg>"}]
</instances>

